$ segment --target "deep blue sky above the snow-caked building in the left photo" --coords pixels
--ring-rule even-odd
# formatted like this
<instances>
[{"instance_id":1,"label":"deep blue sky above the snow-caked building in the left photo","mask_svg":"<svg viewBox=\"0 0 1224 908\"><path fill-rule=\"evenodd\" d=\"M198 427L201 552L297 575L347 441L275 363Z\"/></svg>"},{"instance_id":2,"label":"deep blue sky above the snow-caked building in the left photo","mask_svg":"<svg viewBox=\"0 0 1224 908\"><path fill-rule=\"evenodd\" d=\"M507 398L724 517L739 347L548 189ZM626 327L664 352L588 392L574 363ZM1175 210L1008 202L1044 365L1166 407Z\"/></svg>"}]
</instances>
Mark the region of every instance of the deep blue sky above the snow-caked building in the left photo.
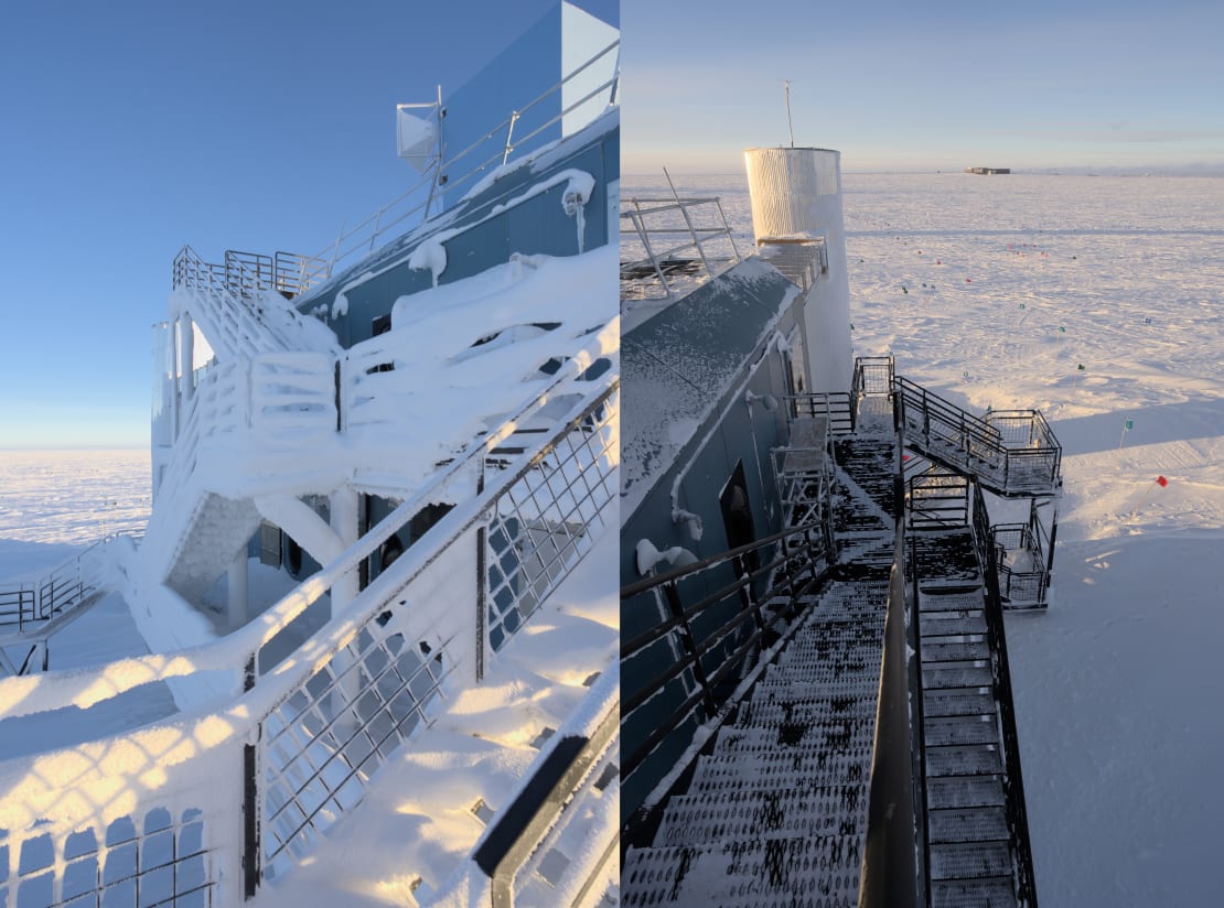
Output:
<instances>
[{"instance_id":1,"label":"deep blue sky above the snow-caked building in the left photo","mask_svg":"<svg viewBox=\"0 0 1224 908\"><path fill-rule=\"evenodd\" d=\"M395 104L457 88L554 1L7 4L0 448L147 447L179 247L321 251L414 182Z\"/></svg>"}]
</instances>

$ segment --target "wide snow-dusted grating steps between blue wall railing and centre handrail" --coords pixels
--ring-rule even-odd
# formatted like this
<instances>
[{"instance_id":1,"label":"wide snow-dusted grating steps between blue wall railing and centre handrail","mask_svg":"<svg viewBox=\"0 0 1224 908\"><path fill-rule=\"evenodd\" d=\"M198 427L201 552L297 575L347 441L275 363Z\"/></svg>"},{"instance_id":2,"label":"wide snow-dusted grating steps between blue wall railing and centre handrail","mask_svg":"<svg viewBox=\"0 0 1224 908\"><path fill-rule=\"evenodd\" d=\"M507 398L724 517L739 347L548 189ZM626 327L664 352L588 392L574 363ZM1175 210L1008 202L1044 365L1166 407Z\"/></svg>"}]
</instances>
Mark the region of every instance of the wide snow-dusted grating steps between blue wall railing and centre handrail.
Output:
<instances>
[{"instance_id":1,"label":"wide snow-dusted grating steps between blue wall railing and centre handrail","mask_svg":"<svg viewBox=\"0 0 1224 908\"><path fill-rule=\"evenodd\" d=\"M800 600L786 649L630 848L627 906L857 906L865 848L897 442L871 404L834 442L840 580Z\"/></svg>"}]
</instances>

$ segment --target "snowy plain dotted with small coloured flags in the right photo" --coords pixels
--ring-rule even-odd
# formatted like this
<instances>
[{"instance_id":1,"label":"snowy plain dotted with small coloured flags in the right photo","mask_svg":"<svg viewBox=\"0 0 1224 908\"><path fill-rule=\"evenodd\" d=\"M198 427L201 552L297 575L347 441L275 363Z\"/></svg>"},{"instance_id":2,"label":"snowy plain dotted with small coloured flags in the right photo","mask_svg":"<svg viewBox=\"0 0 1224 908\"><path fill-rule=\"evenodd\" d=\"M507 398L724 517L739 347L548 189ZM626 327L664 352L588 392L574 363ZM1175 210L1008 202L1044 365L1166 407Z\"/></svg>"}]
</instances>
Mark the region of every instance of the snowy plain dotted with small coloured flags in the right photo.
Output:
<instances>
[{"instance_id":1,"label":"snowy plain dotted with small coloured flags in the right photo","mask_svg":"<svg viewBox=\"0 0 1224 908\"><path fill-rule=\"evenodd\" d=\"M743 177L673 177L750 237ZM856 352L1065 448L1053 605L1007 619L1042 904L1217 904L1224 179L843 187Z\"/></svg>"}]
</instances>

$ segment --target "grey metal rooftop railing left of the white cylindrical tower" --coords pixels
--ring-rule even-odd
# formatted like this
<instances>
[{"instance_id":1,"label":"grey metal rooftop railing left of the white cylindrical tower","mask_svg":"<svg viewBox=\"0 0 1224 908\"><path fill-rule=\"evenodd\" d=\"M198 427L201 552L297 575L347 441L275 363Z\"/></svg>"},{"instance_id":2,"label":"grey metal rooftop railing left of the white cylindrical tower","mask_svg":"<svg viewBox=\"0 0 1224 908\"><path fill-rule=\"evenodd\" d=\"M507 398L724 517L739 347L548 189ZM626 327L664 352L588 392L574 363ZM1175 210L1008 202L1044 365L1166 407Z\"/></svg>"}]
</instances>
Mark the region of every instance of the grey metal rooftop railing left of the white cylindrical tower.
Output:
<instances>
[{"instance_id":1,"label":"grey metal rooftop railing left of the white cylindrical tower","mask_svg":"<svg viewBox=\"0 0 1224 908\"><path fill-rule=\"evenodd\" d=\"M627 202L627 204L624 204ZM739 250L718 198L630 198L623 199L621 228L624 237L635 239L641 257L621 262L621 296L633 300L674 300L685 277L705 272L712 279L739 261ZM717 209L717 220L706 207ZM699 223L701 221L701 223ZM651 295L654 294L654 295Z\"/></svg>"}]
</instances>

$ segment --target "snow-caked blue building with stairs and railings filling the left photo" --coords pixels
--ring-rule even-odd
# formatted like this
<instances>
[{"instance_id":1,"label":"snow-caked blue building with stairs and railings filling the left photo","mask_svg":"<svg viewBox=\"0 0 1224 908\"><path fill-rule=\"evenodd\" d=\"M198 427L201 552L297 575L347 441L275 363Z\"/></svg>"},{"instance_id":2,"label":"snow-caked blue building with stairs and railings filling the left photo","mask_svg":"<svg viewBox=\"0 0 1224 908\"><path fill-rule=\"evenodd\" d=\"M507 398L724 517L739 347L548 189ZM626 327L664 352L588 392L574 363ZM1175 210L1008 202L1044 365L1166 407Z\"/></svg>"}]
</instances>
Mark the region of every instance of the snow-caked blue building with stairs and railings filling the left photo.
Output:
<instances>
[{"instance_id":1,"label":"snow-caked blue building with stairs and railings filling the left photo","mask_svg":"<svg viewBox=\"0 0 1224 908\"><path fill-rule=\"evenodd\" d=\"M148 530L34 629L114 587L149 655L0 720L176 709L0 764L0 904L614 892L617 78L559 4L401 106L421 182L327 253L179 253Z\"/></svg>"}]
</instances>

